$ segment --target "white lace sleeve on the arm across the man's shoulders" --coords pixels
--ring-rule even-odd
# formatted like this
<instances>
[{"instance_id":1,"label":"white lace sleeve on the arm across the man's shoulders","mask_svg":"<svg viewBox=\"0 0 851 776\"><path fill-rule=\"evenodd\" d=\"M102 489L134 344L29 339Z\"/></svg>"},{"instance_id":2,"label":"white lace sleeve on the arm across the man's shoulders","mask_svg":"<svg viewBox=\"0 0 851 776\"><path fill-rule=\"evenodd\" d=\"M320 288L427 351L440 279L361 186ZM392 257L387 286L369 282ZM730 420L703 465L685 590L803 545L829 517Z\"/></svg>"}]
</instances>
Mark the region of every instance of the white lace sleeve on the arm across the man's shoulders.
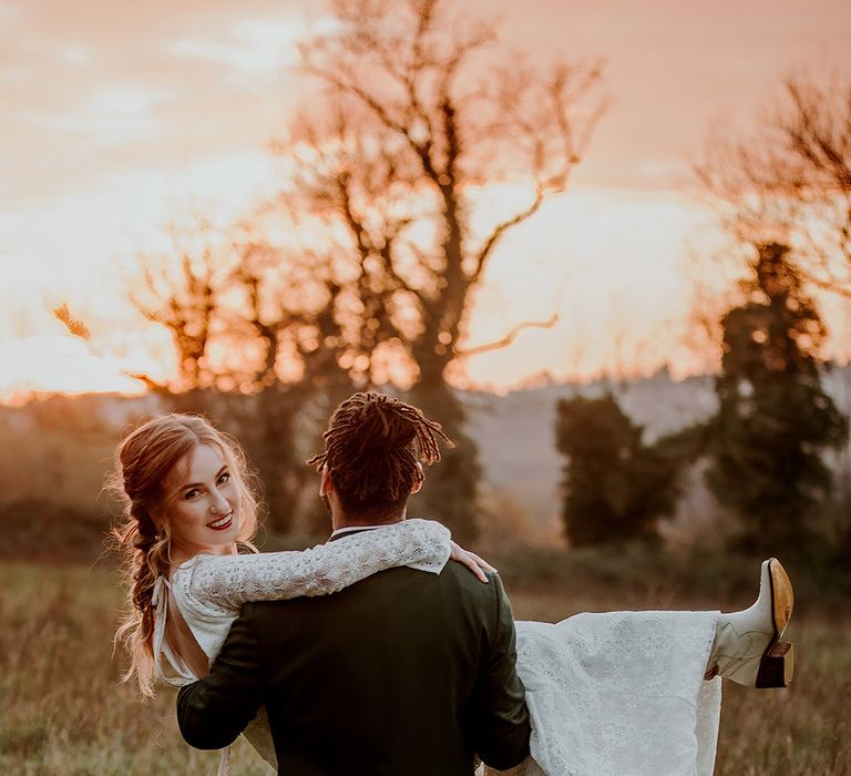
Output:
<instances>
[{"instance_id":1,"label":"white lace sleeve on the arm across the man's shoulders","mask_svg":"<svg viewBox=\"0 0 851 776\"><path fill-rule=\"evenodd\" d=\"M413 519L310 550L204 555L193 566L187 593L202 604L237 611L247 601L327 595L394 566L439 573L450 539L444 525Z\"/></svg>"}]
</instances>

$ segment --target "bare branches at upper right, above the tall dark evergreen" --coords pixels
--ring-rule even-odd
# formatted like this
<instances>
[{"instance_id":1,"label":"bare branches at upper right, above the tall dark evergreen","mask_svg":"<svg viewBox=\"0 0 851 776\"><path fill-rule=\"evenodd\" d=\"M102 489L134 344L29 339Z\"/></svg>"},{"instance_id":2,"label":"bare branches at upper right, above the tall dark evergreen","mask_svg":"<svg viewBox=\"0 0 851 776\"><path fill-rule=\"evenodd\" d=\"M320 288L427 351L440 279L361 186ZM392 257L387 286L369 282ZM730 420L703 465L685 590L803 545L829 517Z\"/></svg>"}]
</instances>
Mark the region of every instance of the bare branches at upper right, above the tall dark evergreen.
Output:
<instances>
[{"instance_id":1,"label":"bare branches at upper right, above the tall dark evergreen","mask_svg":"<svg viewBox=\"0 0 851 776\"><path fill-rule=\"evenodd\" d=\"M755 130L697 167L745 243L790 244L807 278L851 297L851 78L792 76Z\"/></svg>"}]
</instances>

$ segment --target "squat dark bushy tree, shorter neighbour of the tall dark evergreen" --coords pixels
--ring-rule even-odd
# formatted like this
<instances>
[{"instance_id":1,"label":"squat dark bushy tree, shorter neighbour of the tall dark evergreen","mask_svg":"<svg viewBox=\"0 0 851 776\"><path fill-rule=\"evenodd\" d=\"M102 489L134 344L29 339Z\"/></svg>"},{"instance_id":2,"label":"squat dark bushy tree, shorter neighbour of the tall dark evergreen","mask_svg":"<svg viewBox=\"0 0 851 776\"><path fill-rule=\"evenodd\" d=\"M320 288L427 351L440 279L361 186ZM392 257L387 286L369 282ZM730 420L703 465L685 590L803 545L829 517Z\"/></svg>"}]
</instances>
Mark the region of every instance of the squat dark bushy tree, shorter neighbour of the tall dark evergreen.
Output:
<instances>
[{"instance_id":1,"label":"squat dark bushy tree, shorter neighbour of the tall dark evergreen","mask_svg":"<svg viewBox=\"0 0 851 776\"><path fill-rule=\"evenodd\" d=\"M614 396L557 406L556 446L566 456L563 520L572 547L655 539L676 504L678 459L646 446L643 428ZM662 441L662 440L660 440Z\"/></svg>"}]
</instances>

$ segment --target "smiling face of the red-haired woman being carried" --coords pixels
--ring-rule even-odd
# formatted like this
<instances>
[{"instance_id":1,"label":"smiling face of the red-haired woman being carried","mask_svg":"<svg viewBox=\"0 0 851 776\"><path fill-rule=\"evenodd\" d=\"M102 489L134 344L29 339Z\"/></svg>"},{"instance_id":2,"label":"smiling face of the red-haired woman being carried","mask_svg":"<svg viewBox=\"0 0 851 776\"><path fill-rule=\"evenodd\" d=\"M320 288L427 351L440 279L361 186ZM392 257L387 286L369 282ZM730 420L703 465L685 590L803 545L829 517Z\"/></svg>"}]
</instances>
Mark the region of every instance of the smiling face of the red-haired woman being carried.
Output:
<instances>
[{"instance_id":1,"label":"smiling face of the red-haired woman being carried","mask_svg":"<svg viewBox=\"0 0 851 776\"><path fill-rule=\"evenodd\" d=\"M236 551L239 484L221 450L197 445L165 478L172 557Z\"/></svg>"}]
</instances>

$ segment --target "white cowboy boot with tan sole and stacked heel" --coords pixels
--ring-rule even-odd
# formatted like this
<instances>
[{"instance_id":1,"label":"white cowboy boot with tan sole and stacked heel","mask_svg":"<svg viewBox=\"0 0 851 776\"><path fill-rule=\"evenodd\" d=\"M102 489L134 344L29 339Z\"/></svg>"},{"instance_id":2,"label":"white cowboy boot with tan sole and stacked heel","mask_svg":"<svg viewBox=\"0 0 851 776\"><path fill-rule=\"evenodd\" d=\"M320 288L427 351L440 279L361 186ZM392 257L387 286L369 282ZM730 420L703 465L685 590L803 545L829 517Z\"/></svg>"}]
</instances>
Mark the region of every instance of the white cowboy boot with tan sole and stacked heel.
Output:
<instances>
[{"instance_id":1,"label":"white cowboy boot with tan sole and stacked heel","mask_svg":"<svg viewBox=\"0 0 851 776\"><path fill-rule=\"evenodd\" d=\"M780 561L763 561L757 602L742 612L721 614L707 664L707 678L721 675L748 687L786 687L792 680L793 651L780 641L792 615L794 595Z\"/></svg>"}]
</instances>

